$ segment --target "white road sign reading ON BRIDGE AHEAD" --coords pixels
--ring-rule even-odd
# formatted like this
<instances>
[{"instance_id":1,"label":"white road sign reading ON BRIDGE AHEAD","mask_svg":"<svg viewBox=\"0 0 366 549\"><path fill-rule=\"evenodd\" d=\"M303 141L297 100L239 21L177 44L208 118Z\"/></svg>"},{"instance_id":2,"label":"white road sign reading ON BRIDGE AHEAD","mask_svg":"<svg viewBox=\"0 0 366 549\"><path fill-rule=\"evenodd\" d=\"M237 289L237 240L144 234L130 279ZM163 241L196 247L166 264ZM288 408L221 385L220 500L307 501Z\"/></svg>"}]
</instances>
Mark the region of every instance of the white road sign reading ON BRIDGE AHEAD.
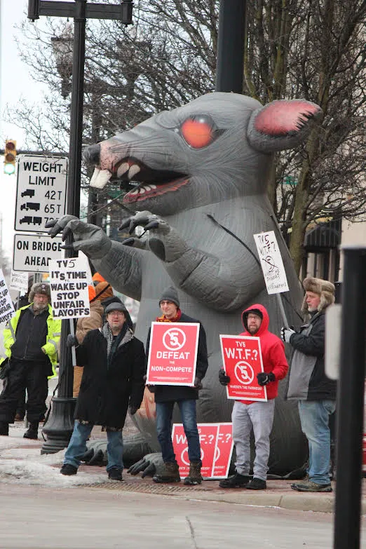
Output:
<instances>
[{"instance_id":1,"label":"white road sign reading ON BRIDGE AHEAD","mask_svg":"<svg viewBox=\"0 0 366 549\"><path fill-rule=\"evenodd\" d=\"M29 273L48 271L51 259L60 259L65 250L61 248L62 238L50 238L45 234L15 233L13 249L13 270Z\"/></svg>"}]
</instances>

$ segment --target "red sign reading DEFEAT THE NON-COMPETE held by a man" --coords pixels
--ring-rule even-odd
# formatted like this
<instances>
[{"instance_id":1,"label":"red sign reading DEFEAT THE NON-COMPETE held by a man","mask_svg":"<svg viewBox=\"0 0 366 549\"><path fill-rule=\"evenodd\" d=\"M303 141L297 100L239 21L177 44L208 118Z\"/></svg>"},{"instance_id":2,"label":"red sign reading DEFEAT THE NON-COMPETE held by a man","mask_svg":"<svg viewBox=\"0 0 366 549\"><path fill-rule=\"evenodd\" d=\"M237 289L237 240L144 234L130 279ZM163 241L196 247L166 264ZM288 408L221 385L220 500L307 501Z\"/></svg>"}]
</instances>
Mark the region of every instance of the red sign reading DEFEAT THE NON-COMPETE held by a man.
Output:
<instances>
[{"instance_id":1,"label":"red sign reading DEFEAT THE NON-COMPETE held by a man","mask_svg":"<svg viewBox=\"0 0 366 549\"><path fill-rule=\"evenodd\" d=\"M194 386L198 323L151 323L147 384Z\"/></svg>"}]
</instances>

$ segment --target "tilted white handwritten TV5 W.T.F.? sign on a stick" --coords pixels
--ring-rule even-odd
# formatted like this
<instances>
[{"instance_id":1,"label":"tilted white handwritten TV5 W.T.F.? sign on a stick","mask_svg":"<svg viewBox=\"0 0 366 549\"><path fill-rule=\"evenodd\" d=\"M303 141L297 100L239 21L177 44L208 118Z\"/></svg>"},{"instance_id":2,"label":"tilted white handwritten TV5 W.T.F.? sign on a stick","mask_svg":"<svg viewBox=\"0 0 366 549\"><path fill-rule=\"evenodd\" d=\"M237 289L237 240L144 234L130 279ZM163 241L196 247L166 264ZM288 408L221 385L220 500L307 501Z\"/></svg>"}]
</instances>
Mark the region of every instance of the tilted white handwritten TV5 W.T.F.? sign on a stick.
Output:
<instances>
[{"instance_id":1,"label":"tilted white handwritten TV5 W.T.F.? sign on a stick","mask_svg":"<svg viewBox=\"0 0 366 549\"><path fill-rule=\"evenodd\" d=\"M286 271L274 231L267 231L253 236L264 280L266 281L267 292L269 294L288 292Z\"/></svg>"}]
</instances>

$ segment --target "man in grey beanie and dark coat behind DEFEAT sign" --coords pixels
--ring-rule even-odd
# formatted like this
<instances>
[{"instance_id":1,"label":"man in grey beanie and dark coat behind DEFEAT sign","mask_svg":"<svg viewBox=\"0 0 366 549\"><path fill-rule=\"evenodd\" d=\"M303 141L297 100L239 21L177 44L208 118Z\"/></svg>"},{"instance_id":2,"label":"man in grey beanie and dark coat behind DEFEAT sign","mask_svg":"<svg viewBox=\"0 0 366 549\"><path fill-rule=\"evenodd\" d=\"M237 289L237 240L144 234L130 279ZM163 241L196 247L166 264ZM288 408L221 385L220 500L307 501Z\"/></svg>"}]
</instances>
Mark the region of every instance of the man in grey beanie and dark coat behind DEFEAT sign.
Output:
<instances>
[{"instance_id":1,"label":"man in grey beanie and dark coat behind DEFEAT sign","mask_svg":"<svg viewBox=\"0 0 366 549\"><path fill-rule=\"evenodd\" d=\"M199 320L185 315L179 309L179 297L177 290L173 286L166 288L163 292L159 300L159 306L163 315L156 318L157 322L199 323ZM147 356L149 356L150 331L147 336ZM177 385L154 386L156 430L165 466L161 474L153 477L155 482L180 482L179 467L175 460L172 445L172 412L175 402L179 406L184 433L188 443L190 466L189 476L184 480L184 484L194 485L201 484L202 482L201 445L196 421L196 400L198 399L198 389L202 387L201 380L205 377L207 368L206 334L203 325L200 323L194 387Z\"/></svg>"}]
</instances>

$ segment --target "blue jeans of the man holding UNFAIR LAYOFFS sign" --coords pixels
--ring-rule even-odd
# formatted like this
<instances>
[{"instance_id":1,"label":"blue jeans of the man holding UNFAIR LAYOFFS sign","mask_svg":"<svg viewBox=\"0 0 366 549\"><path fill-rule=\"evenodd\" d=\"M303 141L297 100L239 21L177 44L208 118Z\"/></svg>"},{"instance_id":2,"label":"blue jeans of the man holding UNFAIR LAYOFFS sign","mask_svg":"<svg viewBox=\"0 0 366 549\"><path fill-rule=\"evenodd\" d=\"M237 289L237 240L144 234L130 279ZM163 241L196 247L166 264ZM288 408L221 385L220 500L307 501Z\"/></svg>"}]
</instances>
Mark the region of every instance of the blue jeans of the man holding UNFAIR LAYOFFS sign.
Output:
<instances>
[{"instance_id":1,"label":"blue jeans of the man holding UNFAIR LAYOFFS sign","mask_svg":"<svg viewBox=\"0 0 366 549\"><path fill-rule=\"evenodd\" d=\"M69 463L74 467L79 467L80 458L86 453L86 440L88 439L93 425L84 425L76 419L74 431L70 439L69 446L65 452L64 464ZM123 438L121 431L107 431L107 471L111 468L123 469Z\"/></svg>"}]
</instances>

